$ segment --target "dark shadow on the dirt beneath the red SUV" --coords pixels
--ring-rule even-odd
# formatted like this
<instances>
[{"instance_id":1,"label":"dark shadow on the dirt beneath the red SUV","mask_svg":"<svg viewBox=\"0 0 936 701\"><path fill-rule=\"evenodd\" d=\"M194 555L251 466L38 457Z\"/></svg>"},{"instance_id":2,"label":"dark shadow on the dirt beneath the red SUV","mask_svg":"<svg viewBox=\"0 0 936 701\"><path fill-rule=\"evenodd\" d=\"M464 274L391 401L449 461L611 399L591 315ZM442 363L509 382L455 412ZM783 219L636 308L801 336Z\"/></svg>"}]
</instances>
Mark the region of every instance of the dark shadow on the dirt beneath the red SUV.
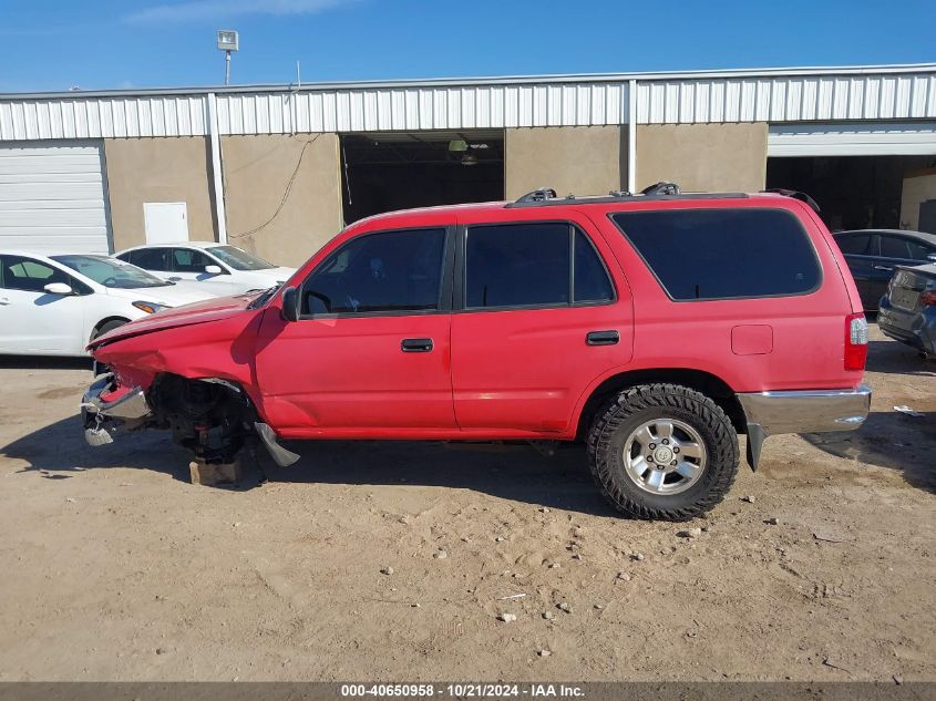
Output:
<instances>
[{"instance_id":1,"label":"dark shadow on the dirt beneath the red SUV","mask_svg":"<svg viewBox=\"0 0 936 701\"><path fill-rule=\"evenodd\" d=\"M614 515L588 472L585 447L564 445L545 456L526 443L441 443L410 441L292 441L302 457L279 467L257 446L241 455L245 480L300 484L422 485L470 489L536 506L594 515ZM0 456L29 463L22 472L63 480L88 470L128 467L161 472L188 482L191 454L167 432L142 431L115 443L91 447L79 416L70 416L0 446Z\"/></svg>"}]
</instances>

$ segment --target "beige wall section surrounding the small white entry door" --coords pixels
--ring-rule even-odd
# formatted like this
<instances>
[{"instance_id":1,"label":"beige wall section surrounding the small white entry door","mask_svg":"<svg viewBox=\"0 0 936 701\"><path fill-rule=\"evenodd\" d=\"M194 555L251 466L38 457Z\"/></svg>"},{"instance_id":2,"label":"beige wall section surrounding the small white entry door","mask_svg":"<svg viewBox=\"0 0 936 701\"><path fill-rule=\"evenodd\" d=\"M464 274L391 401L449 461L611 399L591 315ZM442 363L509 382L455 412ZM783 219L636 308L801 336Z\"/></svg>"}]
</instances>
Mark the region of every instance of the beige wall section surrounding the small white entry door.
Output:
<instances>
[{"instance_id":1,"label":"beige wall section surrounding the small white entry door","mask_svg":"<svg viewBox=\"0 0 936 701\"><path fill-rule=\"evenodd\" d=\"M188 238L215 240L207 148L203 136L104 140L115 250L146 243L145 202L184 202Z\"/></svg>"}]
</instances>

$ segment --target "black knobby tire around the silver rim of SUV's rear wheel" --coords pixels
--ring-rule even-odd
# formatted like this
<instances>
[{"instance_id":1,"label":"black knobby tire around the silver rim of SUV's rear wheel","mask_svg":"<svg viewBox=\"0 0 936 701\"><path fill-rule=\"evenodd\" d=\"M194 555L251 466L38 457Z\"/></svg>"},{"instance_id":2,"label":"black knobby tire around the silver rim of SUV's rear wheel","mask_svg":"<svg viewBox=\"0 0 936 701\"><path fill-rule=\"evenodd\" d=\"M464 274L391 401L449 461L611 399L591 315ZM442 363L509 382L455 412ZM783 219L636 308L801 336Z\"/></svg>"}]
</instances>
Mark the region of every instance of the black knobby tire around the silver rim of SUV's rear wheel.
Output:
<instances>
[{"instance_id":1,"label":"black knobby tire around the silver rim of SUV's rear wheel","mask_svg":"<svg viewBox=\"0 0 936 701\"><path fill-rule=\"evenodd\" d=\"M625 468L628 440L655 419L687 424L704 446L701 474L676 494L646 491ZM738 474L738 434L721 408L704 394L677 384L645 384L621 392L598 411L588 433L588 464L601 493L620 513L687 520L714 507L731 488Z\"/></svg>"}]
</instances>

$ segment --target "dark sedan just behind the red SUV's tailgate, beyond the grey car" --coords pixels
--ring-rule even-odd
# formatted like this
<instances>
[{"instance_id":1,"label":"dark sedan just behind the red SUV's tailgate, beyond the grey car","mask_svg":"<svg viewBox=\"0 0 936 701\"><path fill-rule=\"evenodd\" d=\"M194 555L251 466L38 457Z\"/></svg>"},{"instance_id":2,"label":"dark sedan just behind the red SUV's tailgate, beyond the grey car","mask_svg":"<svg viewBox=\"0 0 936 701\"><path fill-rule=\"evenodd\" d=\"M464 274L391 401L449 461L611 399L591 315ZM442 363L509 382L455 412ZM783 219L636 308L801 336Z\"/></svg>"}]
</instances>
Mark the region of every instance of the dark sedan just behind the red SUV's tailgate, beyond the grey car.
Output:
<instances>
[{"instance_id":1,"label":"dark sedan just behind the red SUV's tailgate, beyond the grey car","mask_svg":"<svg viewBox=\"0 0 936 701\"><path fill-rule=\"evenodd\" d=\"M897 266L936 262L936 234L903 229L836 231L835 243L845 256L867 310L887 291Z\"/></svg>"}]
</instances>

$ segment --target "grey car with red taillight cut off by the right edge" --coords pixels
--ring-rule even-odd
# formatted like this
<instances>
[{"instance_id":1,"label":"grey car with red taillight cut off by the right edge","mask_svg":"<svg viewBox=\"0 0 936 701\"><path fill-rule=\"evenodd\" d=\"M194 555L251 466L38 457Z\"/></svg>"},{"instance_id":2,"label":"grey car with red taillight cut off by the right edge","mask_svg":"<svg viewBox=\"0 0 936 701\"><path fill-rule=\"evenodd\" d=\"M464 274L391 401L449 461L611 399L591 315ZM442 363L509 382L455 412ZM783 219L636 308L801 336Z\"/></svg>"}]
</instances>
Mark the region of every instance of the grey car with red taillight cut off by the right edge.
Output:
<instances>
[{"instance_id":1,"label":"grey car with red taillight cut off by the right edge","mask_svg":"<svg viewBox=\"0 0 936 701\"><path fill-rule=\"evenodd\" d=\"M936 355L936 265L897 267L881 298L877 324L892 339Z\"/></svg>"}]
</instances>

